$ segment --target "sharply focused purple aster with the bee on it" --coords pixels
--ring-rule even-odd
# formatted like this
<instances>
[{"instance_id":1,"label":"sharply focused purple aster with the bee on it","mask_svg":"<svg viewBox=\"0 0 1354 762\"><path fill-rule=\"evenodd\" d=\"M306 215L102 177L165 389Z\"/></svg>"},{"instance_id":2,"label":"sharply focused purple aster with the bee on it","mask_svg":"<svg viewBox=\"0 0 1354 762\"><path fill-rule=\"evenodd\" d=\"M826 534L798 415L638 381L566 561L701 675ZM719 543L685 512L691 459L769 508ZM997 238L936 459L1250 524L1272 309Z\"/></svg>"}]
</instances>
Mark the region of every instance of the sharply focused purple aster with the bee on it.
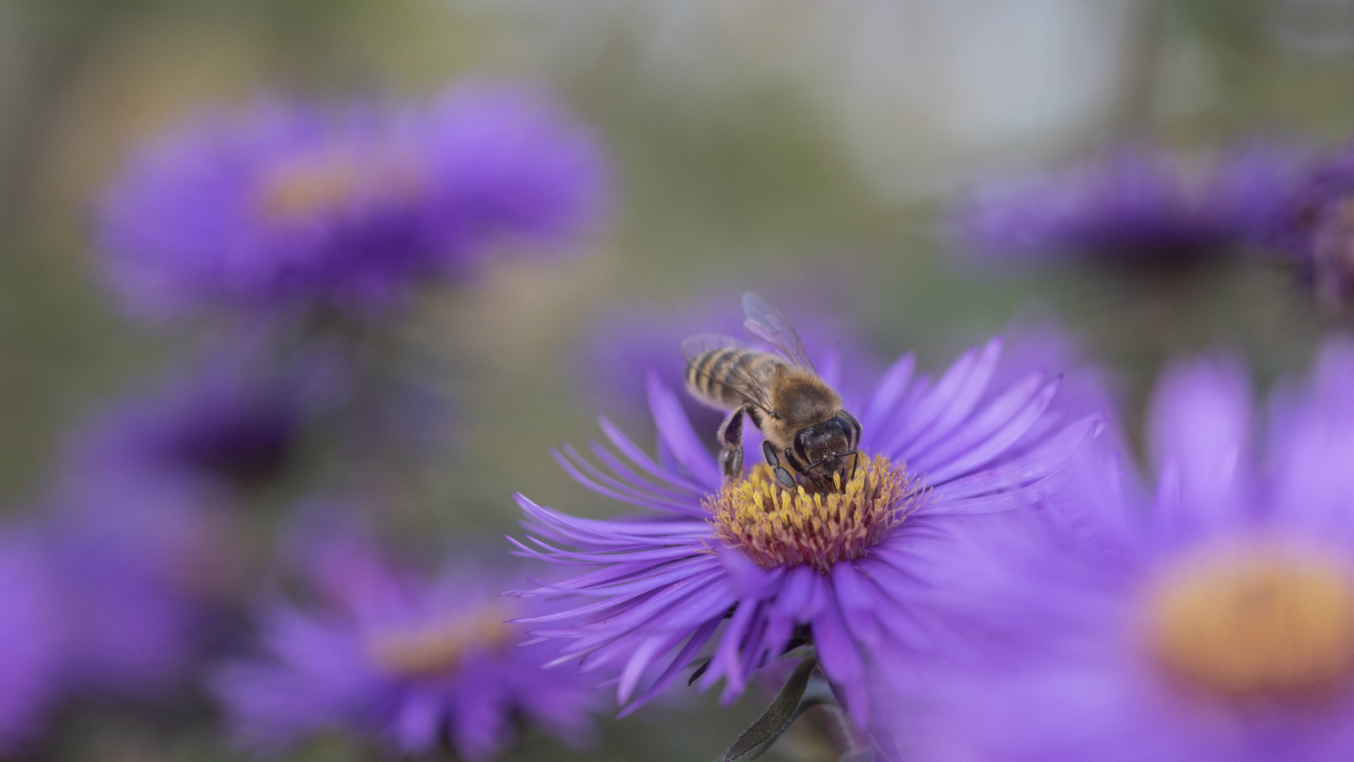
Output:
<instances>
[{"instance_id":1,"label":"sharply focused purple aster with the bee on it","mask_svg":"<svg viewBox=\"0 0 1354 762\"><path fill-rule=\"evenodd\" d=\"M1049 408L1057 380L1045 373L994 388L1001 354L994 339L937 380L914 376L909 354L873 388L838 386L864 427L865 457L826 499L777 487L756 433L745 446L757 465L726 484L677 395L650 374L657 457L603 419L613 450L592 445L601 466L569 446L556 460L593 491L651 513L584 519L517 498L535 545L516 542L520 553L590 569L527 594L585 601L535 620L550 628L539 635L569 641L558 663L617 670L627 712L707 643L700 686L726 679L731 701L754 670L807 639L865 723L872 649L923 637L913 601L945 552L940 538L963 532L965 514L1018 503L1014 492L1037 488L1094 428L1094 419L1059 420Z\"/></svg>"}]
</instances>

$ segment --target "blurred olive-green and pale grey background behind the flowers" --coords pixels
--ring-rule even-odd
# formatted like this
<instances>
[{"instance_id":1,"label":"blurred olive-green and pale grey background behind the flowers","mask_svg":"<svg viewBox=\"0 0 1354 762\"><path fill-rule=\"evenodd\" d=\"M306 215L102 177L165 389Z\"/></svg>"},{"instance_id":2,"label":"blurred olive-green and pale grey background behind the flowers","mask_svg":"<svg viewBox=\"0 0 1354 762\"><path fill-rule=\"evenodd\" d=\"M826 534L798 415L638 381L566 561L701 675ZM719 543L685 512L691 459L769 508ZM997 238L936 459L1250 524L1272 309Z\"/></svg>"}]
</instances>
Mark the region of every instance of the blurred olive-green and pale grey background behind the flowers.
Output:
<instances>
[{"instance_id":1,"label":"blurred olive-green and pale grey background behind the flowers","mask_svg":"<svg viewBox=\"0 0 1354 762\"><path fill-rule=\"evenodd\" d=\"M727 313L745 287L932 367L1057 321L1129 420L1163 358L1232 347L1263 381L1305 367L1323 329L1262 260L1169 287L1075 263L991 267L957 251L945 210L984 176L1120 140L1338 145L1354 132L1346 0L0 0L3 504L26 510L72 427L199 339L192 323L129 320L99 281L91 203L133 145L260 92L417 98L464 75L544 80L590 123L611 217L578 256L422 294L380 359L417 389L421 426L343 468L311 442L250 498L256 556L309 492L378 502L429 553L467 538L506 552L515 491L612 513L548 449L594 438L598 412L651 426L611 392L643 377L605 361L615 327ZM508 758L715 758L765 701L692 694L604 723L592 750L527 735ZM200 694L68 706L50 738L46 759L242 758ZM370 754L334 736L294 758ZM829 754L810 727L768 758Z\"/></svg>"}]
</instances>

